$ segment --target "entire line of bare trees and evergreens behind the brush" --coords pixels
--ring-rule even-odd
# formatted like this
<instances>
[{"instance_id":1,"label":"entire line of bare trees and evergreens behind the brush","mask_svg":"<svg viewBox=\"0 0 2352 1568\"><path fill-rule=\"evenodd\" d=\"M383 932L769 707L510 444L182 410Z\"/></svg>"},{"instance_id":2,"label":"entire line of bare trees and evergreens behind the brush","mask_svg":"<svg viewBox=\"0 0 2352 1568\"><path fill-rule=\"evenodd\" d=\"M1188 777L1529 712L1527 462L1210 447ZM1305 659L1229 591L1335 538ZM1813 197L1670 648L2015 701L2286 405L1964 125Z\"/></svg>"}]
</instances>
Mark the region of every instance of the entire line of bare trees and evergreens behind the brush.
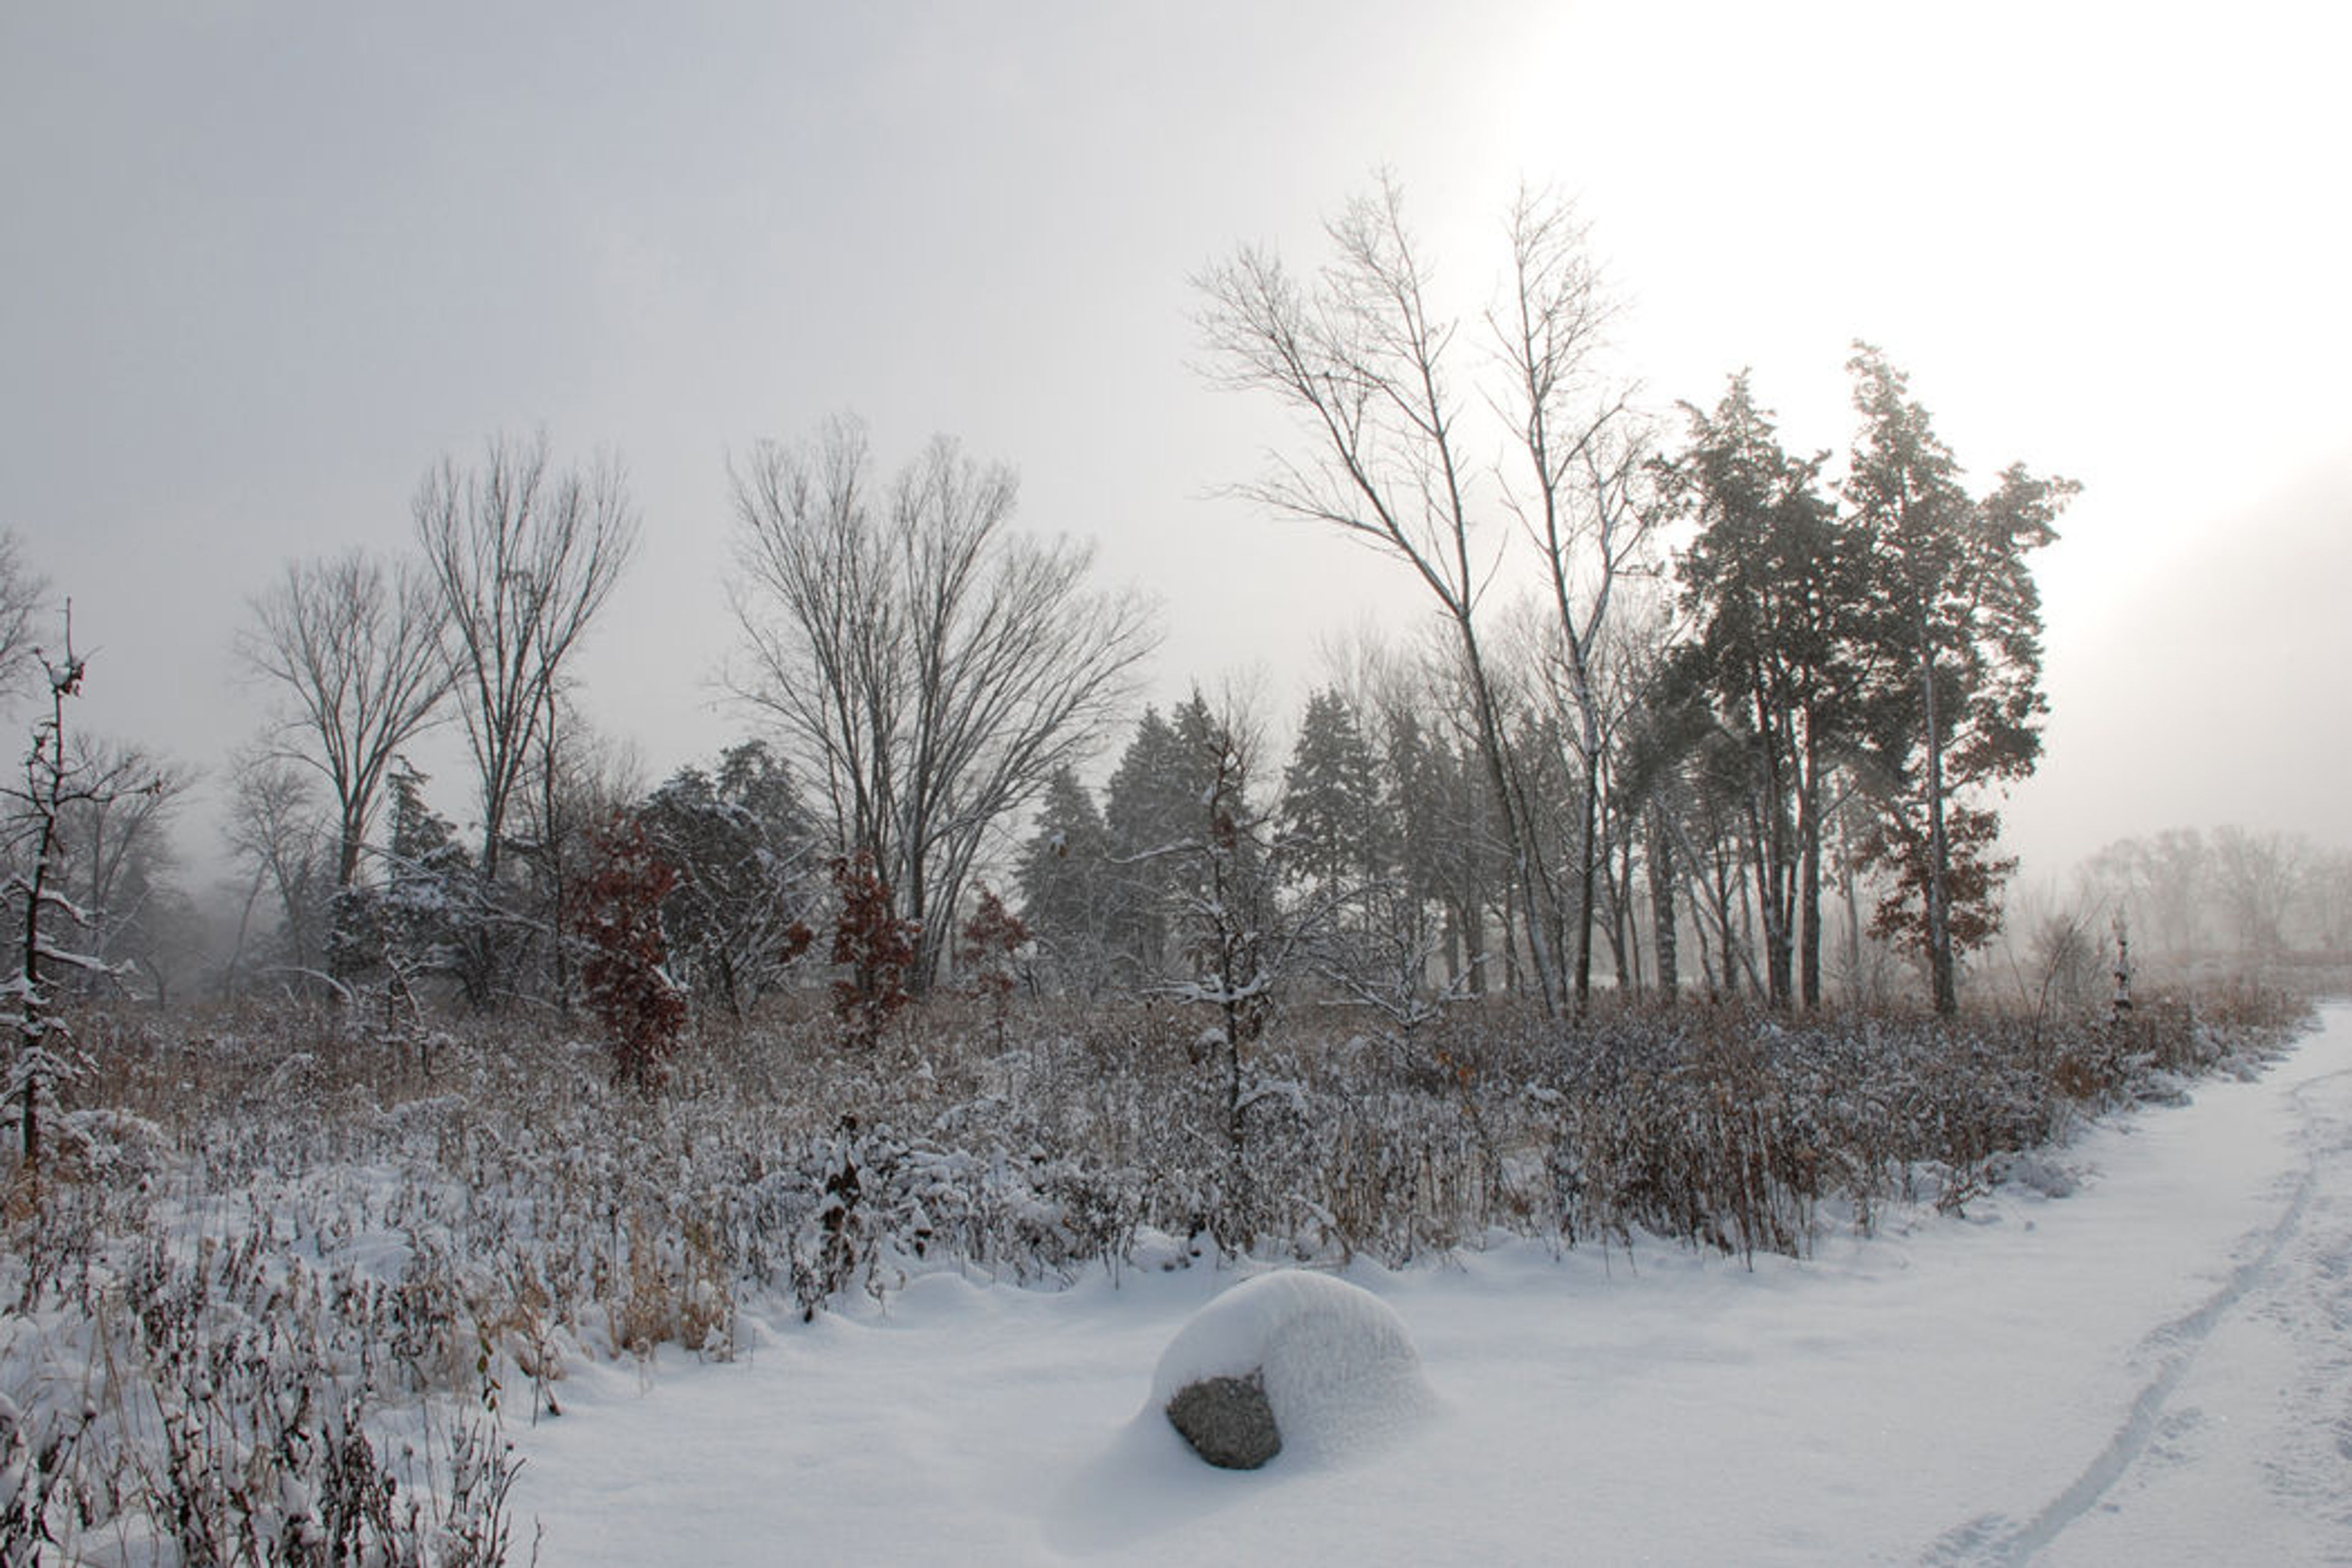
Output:
<instances>
[{"instance_id":1,"label":"entire line of bare trees and evergreens behind the brush","mask_svg":"<svg viewBox=\"0 0 2352 1568\"><path fill-rule=\"evenodd\" d=\"M499 437L426 473L407 550L289 562L252 597L273 719L233 759L228 983L562 1009L593 926L701 1006L828 961L920 997L995 964L957 954L995 905L1025 985L1211 1004L1228 1044L1298 985L1406 1020L1494 990L1569 1013L1597 983L1820 1006L1886 952L1952 1011L2013 870L1999 790L2046 717L2030 557L2074 487L1971 487L1860 343L1835 470L1748 374L1637 414L1559 202L1508 214L1468 317L1395 186L1327 240L1312 270L1244 247L1195 280L1207 371L1294 418L1235 494L1371 545L1435 614L1312 696L1287 766L1242 703L1129 717L1155 611L1016 531L1009 468L938 440L884 473L844 418L731 468L755 733L647 790L572 677L640 543L626 473ZM42 595L5 564L19 646ZM466 832L407 762L433 724L466 741ZM169 945L191 773L75 745L115 788L35 870L78 879L82 945L120 971ZM595 903L626 896L659 922ZM143 973L167 990L160 957Z\"/></svg>"}]
</instances>

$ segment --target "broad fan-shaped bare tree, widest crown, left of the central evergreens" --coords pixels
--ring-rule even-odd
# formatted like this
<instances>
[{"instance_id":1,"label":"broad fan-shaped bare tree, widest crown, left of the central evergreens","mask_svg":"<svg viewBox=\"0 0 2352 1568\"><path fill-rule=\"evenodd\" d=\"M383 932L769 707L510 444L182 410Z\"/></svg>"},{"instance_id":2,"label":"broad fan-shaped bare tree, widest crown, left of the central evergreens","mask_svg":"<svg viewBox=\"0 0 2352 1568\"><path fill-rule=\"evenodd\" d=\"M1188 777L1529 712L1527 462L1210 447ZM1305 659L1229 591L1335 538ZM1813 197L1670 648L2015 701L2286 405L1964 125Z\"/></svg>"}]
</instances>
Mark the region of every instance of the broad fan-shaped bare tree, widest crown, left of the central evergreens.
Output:
<instances>
[{"instance_id":1,"label":"broad fan-shaped bare tree, widest crown, left of the central evergreens","mask_svg":"<svg viewBox=\"0 0 2352 1568\"><path fill-rule=\"evenodd\" d=\"M762 444L731 477L736 691L922 926L920 992L985 832L1094 745L1155 644L1150 611L1087 588L1091 550L1011 534L1011 470L946 437L887 489L854 421Z\"/></svg>"}]
</instances>

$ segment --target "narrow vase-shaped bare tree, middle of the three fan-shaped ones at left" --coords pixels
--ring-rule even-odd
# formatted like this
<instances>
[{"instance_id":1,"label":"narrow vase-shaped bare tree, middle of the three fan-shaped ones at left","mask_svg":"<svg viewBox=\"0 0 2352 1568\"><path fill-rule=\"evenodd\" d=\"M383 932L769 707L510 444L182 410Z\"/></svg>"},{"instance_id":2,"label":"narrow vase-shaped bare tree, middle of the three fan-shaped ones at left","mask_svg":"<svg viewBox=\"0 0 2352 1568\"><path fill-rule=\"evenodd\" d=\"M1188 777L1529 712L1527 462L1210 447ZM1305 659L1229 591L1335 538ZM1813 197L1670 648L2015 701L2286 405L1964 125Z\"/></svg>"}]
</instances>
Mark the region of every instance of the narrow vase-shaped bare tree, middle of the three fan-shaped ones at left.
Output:
<instances>
[{"instance_id":1,"label":"narrow vase-shaped bare tree, middle of the three fan-shaped ones at left","mask_svg":"<svg viewBox=\"0 0 2352 1568\"><path fill-rule=\"evenodd\" d=\"M508 811L555 722L564 663L637 545L619 463L548 470L546 435L492 440L416 491L416 538L449 616L449 672L482 790L482 879L496 882Z\"/></svg>"}]
</instances>

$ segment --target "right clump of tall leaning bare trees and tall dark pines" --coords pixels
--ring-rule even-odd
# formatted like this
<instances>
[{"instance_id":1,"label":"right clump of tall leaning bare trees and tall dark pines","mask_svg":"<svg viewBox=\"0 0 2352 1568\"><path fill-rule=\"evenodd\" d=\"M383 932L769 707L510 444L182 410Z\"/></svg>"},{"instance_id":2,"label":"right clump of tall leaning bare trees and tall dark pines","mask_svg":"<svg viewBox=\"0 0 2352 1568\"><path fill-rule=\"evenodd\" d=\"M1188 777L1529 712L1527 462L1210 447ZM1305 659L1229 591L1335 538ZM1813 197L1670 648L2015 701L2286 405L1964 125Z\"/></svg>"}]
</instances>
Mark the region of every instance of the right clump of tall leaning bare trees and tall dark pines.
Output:
<instances>
[{"instance_id":1,"label":"right clump of tall leaning bare trees and tall dark pines","mask_svg":"<svg viewBox=\"0 0 2352 1568\"><path fill-rule=\"evenodd\" d=\"M1428 590L1508 924L1550 1011L1590 999L1613 877L1623 912L1646 872L1663 936L1677 882L1710 863L1698 903L1719 936L1733 884L1752 900L1759 990L1818 1006L1832 832L1886 882L1875 931L1917 950L1952 1011L2011 870L1992 792L2039 755L2027 557L2074 487L2011 465L1971 494L1905 376L1860 343L1839 484L1828 454L1780 444L1745 376L1686 407L1672 444L1602 383L1609 310L1569 209L1522 197L1505 233L1477 322L1435 303L1392 183L1329 223L1312 275L1256 249L1204 273L1216 371L1296 418L1242 494ZM1677 531L1672 585L1644 592ZM1505 559L1536 592L1498 611Z\"/></svg>"}]
</instances>

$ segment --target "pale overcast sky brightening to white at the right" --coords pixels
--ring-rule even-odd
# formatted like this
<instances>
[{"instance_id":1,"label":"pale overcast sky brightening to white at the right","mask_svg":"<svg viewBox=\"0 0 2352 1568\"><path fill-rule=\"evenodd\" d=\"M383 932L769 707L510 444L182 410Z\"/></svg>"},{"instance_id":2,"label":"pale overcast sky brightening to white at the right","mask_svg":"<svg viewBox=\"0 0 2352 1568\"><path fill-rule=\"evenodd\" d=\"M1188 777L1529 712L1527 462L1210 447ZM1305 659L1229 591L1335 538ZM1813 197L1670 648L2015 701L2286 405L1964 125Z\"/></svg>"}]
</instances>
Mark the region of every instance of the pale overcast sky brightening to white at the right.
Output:
<instances>
[{"instance_id":1,"label":"pale overcast sky brightening to white at the right","mask_svg":"<svg viewBox=\"0 0 2352 1568\"><path fill-rule=\"evenodd\" d=\"M80 722L219 771L294 555L409 541L442 454L619 454L644 548L579 675L652 776L746 719L727 456L863 416L1002 458L1164 602L1162 691L1421 614L1218 484L1282 425L1188 277L1319 259L1388 167L1475 308L1578 200L1621 374L1752 367L1844 449L1856 336L2042 557L2030 875L2239 820L2352 839L2352 24L2328 5L45 5L0 9L0 527L96 649ZM454 762L435 785L466 809ZM209 837L209 809L191 839ZM193 853L209 844L191 842Z\"/></svg>"}]
</instances>

